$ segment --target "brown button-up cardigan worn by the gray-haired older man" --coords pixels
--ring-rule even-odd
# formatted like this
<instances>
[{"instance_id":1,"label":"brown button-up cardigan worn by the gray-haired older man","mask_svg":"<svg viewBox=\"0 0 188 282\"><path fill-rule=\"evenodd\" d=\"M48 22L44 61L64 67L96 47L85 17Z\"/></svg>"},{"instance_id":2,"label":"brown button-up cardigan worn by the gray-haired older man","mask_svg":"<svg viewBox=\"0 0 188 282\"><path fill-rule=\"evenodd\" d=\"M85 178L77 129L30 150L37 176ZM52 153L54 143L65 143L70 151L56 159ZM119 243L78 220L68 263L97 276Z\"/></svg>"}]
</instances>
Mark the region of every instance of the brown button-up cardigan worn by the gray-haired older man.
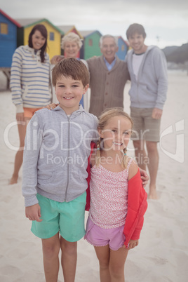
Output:
<instances>
[{"instance_id":1,"label":"brown button-up cardigan worn by the gray-haired older man","mask_svg":"<svg viewBox=\"0 0 188 282\"><path fill-rule=\"evenodd\" d=\"M116 57L114 67L109 71L103 55L87 60L90 72L91 114L100 116L106 108L123 107L123 90L129 79L126 62Z\"/></svg>"}]
</instances>

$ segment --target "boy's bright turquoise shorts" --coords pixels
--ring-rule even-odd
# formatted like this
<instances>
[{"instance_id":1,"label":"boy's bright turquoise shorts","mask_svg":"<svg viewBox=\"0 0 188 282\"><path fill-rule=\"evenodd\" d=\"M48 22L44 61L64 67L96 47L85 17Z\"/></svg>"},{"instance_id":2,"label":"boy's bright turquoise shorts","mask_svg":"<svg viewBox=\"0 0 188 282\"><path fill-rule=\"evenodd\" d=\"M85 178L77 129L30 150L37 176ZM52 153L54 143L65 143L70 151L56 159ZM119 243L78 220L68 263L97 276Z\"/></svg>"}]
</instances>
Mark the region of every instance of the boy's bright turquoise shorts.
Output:
<instances>
[{"instance_id":1,"label":"boy's bright turquoise shorts","mask_svg":"<svg viewBox=\"0 0 188 282\"><path fill-rule=\"evenodd\" d=\"M79 241L85 235L84 216L86 192L69 202L57 202L39 194L41 222L32 222L32 232L41 239L48 239L60 232L69 242Z\"/></svg>"}]
</instances>

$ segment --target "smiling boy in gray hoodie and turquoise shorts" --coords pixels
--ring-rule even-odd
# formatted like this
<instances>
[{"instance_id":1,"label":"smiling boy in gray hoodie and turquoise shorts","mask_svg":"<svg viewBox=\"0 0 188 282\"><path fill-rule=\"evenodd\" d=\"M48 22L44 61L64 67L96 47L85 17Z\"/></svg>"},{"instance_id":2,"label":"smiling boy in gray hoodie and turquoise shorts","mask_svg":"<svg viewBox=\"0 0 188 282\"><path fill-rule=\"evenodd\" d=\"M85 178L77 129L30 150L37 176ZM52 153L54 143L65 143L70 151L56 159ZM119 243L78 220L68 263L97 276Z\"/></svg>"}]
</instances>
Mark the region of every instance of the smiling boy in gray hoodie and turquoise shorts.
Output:
<instances>
[{"instance_id":1,"label":"smiling boy in gray hoodie and turquoise shorts","mask_svg":"<svg viewBox=\"0 0 188 282\"><path fill-rule=\"evenodd\" d=\"M61 249L64 279L73 282L76 242L85 234L86 168L98 119L79 105L89 81L83 62L62 60L53 68L52 81L60 104L36 112L27 126L22 194L32 232L42 241L46 281L58 281Z\"/></svg>"}]
</instances>

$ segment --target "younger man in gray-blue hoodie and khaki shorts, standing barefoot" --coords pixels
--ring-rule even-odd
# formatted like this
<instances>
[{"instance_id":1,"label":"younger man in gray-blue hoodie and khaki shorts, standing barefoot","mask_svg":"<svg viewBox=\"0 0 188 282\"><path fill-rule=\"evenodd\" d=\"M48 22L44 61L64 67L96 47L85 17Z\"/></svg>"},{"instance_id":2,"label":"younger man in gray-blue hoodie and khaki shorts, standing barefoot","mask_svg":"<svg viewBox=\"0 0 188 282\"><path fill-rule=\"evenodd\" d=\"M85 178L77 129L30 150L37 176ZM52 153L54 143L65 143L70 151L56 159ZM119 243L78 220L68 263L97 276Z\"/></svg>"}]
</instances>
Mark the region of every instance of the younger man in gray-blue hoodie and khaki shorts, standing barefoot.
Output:
<instances>
[{"instance_id":1,"label":"younger man in gray-blue hoodie and khaki shorts, standing barefoot","mask_svg":"<svg viewBox=\"0 0 188 282\"><path fill-rule=\"evenodd\" d=\"M131 80L130 116L134 121L135 156L142 169L146 166L149 169L149 199L157 199L157 142L168 89L166 58L157 46L145 45L146 33L142 25L130 25L126 36L132 48L126 55L126 62Z\"/></svg>"}]
</instances>

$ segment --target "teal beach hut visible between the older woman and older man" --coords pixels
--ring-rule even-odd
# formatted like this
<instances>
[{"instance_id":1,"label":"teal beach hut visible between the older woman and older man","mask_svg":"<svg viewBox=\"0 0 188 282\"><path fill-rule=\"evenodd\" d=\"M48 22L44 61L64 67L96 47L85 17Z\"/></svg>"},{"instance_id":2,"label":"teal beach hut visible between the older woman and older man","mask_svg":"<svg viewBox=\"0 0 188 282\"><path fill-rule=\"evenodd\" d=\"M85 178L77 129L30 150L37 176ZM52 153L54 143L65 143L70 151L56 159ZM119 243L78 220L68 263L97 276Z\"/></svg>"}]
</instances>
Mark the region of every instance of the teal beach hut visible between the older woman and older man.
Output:
<instances>
[{"instance_id":1,"label":"teal beach hut visible between the older woman and older man","mask_svg":"<svg viewBox=\"0 0 188 282\"><path fill-rule=\"evenodd\" d=\"M100 56L100 37L102 34L98 30L83 30L80 33L83 36L81 59L87 60L93 56Z\"/></svg>"}]
</instances>

